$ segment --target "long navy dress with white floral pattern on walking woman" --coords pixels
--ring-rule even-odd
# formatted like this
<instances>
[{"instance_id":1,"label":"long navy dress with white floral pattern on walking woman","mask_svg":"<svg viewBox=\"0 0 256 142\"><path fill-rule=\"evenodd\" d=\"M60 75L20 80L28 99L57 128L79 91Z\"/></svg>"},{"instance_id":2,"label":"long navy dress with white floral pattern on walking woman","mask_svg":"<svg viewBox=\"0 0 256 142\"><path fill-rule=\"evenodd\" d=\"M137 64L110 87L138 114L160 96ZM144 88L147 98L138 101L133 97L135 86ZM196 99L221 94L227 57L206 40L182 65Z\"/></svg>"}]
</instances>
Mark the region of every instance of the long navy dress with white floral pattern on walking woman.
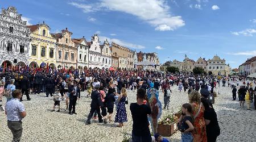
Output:
<instances>
[{"instance_id":1,"label":"long navy dress with white floral pattern on walking woman","mask_svg":"<svg viewBox=\"0 0 256 142\"><path fill-rule=\"evenodd\" d=\"M125 99L122 97L117 105L117 114L115 115L115 123L127 122L127 114L125 109Z\"/></svg>"}]
</instances>

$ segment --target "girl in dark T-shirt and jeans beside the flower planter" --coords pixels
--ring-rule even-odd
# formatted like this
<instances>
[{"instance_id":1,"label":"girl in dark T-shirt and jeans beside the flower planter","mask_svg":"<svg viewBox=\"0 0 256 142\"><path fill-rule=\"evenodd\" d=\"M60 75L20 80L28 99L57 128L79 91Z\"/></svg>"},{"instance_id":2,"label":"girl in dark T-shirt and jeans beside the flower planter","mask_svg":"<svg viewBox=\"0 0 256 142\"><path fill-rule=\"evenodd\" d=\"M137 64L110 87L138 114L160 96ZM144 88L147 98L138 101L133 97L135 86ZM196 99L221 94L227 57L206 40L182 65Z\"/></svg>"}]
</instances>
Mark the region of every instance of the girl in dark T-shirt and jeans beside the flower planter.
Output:
<instances>
[{"instance_id":1,"label":"girl in dark T-shirt and jeans beside the flower planter","mask_svg":"<svg viewBox=\"0 0 256 142\"><path fill-rule=\"evenodd\" d=\"M192 125L192 107L189 103L182 105L182 115L180 116L178 128L181 132L181 142L192 142L192 131L194 127Z\"/></svg>"}]
</instances>

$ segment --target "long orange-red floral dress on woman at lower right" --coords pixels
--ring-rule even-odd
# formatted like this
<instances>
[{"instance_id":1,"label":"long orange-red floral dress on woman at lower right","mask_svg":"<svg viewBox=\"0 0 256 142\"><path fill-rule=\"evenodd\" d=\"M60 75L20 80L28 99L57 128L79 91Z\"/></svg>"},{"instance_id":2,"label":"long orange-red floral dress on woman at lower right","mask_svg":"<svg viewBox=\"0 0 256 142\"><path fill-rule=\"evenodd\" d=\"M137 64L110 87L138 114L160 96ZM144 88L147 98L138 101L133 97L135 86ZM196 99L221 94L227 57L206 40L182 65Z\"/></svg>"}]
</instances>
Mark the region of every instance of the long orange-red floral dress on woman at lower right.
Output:
<instances>
[{"instance_id":1,"label":"long orange-red floral dress on woman at lower right","mask_svg":"<svg viewBox=\"0 0 256 142\"><path fill-rule=\"evenodd\" d=\"M193 116L197 114L200 104L193 103L195 110L192 112ZM199 115L194 119L193 126L195 127L193 134L194 142L207 142L206 126L204 122L204 107L201 106Z\"/></svg>"}]
</instances>

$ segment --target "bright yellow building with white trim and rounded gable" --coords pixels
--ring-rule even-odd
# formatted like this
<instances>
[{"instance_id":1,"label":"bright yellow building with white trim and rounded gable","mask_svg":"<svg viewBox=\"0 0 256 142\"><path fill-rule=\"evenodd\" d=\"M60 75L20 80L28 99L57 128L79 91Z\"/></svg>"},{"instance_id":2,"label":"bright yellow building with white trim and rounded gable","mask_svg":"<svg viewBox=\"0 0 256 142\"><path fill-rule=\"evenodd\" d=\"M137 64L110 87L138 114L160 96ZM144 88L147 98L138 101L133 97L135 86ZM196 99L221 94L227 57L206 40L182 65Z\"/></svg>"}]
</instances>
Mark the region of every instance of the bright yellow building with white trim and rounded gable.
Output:
<instances>
[{"instance_id":1,"label":"bright yellow building with white trim and rounded gable","mask_svg":"<svg viewBox=\"0 0 256 142\"><path fill-rule=\"evenodd\" d=\"M46 67L48 63L49 66L56 68L56 39L50 34L49 26L43 22L27 27L30 28L32 40L28 60L30 66Z\"/></svg>"}]
</instances>

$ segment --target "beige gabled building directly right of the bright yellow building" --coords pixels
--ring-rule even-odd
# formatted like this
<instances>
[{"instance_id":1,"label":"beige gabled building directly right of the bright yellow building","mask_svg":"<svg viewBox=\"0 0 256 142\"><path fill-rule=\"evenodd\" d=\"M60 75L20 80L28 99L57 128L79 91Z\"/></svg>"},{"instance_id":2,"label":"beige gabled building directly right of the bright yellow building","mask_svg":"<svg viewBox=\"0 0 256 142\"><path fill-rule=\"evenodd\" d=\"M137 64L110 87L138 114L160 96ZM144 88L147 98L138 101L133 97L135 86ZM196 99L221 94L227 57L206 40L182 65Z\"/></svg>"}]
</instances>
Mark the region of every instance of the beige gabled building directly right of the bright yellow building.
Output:
<instances>
[{"instance_id":1,"label":"beige gabled building directly right of the bright yellow building","mask_svg":"<svg viewBox=\"0 0 256 142\"><path fill-rule=\"evenodd\" d=\"M51 34L57 40L57 68L76 68L77 66L77 47L71 40L72 32L68 28L61 33Z\"/></svg>"}]
</instances>

